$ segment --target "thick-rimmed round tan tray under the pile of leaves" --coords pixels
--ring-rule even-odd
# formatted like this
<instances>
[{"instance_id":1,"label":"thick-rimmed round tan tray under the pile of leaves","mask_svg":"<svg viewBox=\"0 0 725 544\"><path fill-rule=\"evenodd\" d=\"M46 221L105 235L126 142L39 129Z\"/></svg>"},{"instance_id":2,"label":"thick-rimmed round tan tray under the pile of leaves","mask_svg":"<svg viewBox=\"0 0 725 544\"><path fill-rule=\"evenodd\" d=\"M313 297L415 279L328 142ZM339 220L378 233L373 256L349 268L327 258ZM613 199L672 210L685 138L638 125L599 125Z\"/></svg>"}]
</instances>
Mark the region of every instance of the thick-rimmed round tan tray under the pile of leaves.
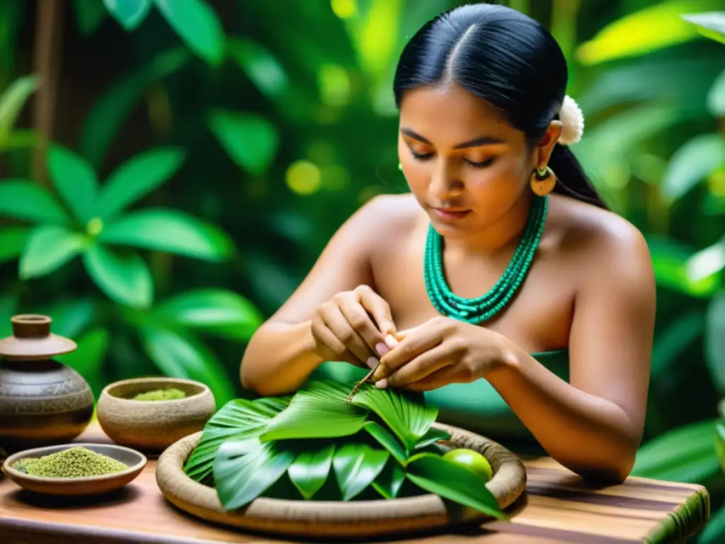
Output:
<instances>
[{"instance_id":1,"label":"thick-rimmed round tan tray under the pile of leaves","mask_svg":"<svg viewBox=\"0 0 725 544\"><path fill-rule=\"evenodd\" d=\"M444 445L470 448L488 459L493 476L486 487L501 508L510 506L523 493L526 469L517 456L479 434L439 423L434 426L450 432L451 440ZM274 535L339 538L402 535L492 519L433 494L355 502L260 497L245 508L225 511L214 488L195 482L183 472L183 464L201 436L200 432L192 434L162 453L156 481L170 503L208 522Z\"/></svg>"}]
</instances>

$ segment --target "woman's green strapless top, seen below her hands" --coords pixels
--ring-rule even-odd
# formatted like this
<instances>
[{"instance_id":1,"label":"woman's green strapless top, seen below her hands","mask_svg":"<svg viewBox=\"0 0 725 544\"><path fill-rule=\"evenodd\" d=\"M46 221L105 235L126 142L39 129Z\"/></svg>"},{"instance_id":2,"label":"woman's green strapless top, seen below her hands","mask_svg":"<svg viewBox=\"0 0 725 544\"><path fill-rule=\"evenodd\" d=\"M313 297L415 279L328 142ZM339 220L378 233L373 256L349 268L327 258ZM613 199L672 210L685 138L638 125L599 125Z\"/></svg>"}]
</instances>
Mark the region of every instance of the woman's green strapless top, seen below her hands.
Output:
<instances>
[{"instance_id":1,"label":"woman's green strapless top, seen below her hands","mask_svg":"<svg viewBox=\"0 0 725 544\"><path fill-rule=\"evenodd\" d=\"M569 381L568 350L555 350L531 354L539 363L566 382ZM355 382L368 371L348 363L323 363L312 379L331 379ZM517 453L540 455L544 453L534 435L521 423L505 400L485 379L468 384L450 384L426 392L426 401L439 407L438 421L496 440Z\"/></svg>"}]
</instances>

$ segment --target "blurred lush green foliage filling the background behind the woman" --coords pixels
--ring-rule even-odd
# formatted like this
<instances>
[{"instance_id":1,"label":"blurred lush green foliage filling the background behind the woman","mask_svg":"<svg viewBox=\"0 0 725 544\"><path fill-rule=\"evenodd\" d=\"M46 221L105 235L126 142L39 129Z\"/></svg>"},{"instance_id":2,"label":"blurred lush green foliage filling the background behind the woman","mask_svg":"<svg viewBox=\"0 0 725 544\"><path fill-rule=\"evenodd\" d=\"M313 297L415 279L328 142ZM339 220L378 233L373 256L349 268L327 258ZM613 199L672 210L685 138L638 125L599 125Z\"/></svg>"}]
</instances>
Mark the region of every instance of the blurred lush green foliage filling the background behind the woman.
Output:
<instances>
[{"instance_id":1,"label":"blurred lush green foliage filling the background behind the woman","mask_svg":"<svg viewBox=\"0 0 725 544\"><path fill-rule=\"evenodd\" d=\"M22 112L38 88L28 75L33 51L20 40L31 3L0 0L0 334L12 313L50 313L54 331L79 344L65 360L96 392L162 372L211 384L220 405L247 396L239 359L262 317L356 207L406 189L390 137L394 62L425 20L463 3L67 2L75 25L65 25L60 72L80 72L59 81L65 92L49 144L70 164L61 160L61 177L44 181L31 175L29 152L43 142L16 127L30 126ZM701 540L716 542L725 534L714 424L725 392L725 46L724 16L713 12L721 0L507 3L541 20L563 47L568 93L586 117L573 151L650 243L658 316L635 472L707 485L713 522ZM93 91L78 92L86 88ZM183 162L168 160L163 181L157 162L147 181L158 186L107 192L121 165L159 151ZM78 162L85 181L63 189ZM128 207L97 207L79 221L88 195L75 191L99 179L97 194ZM171 215L148 215L159 208ZM113 217L93 221L106 213ZM114 221L120 234L107 230ZM164 245L139 230L159 221L190 238ZM127 270L138 289L128 289ZM387 433L376 440L399 440L392 427ZM385 489L399 482L391 466L373 486L382 489L384 476Z\"/></svg>"}]
</instances>

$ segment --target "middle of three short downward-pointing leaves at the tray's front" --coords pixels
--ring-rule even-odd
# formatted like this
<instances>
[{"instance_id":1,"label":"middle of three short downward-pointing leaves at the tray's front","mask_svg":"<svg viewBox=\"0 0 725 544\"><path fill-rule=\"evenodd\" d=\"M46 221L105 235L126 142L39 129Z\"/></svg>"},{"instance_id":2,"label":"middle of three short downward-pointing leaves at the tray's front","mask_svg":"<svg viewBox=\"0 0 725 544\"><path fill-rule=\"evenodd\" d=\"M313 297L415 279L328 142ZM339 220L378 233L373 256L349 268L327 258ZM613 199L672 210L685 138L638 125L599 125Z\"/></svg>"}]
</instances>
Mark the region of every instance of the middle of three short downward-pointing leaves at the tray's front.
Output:
<instances>
[{"instance_id":1,"label":"middle of three short downward-pointing leaves at the tray's front","mask_svg":"<svg viewBox=\"0 0 725 544\"><path fill-rule=\"evenodd\" d=\"M373 483L389 458L388 450L376 450L364 443L347 442L337 448L332 466L342 500L355 498Z\"/></svg>"}]
</instances>

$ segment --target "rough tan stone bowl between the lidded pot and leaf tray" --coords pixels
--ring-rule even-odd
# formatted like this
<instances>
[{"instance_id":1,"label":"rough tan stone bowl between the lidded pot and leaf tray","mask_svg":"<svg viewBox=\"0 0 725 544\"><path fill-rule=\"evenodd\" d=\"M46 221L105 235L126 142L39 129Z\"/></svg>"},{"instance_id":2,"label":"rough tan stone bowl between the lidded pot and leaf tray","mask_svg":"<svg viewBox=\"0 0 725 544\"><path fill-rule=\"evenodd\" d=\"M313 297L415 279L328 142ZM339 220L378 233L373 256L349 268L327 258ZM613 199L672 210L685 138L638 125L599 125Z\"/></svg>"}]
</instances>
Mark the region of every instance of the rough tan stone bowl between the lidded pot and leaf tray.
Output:
<instances>
[{"instance_id":1,"label":"rough tan stone bowl between the lidded pot and leaf tray","mask_svg":"<svg viewBox=\"0 0 725 544\"><path fill-rule=\"evenodd\" d=\"M178 400L131 400L131 397L175 387L188 395ZM190 379L136 378L107 385L96 413L101 429L117 444L161 453L177 440L204 429L216 402L209 387Z\"/></svg>"}]
</instances>

